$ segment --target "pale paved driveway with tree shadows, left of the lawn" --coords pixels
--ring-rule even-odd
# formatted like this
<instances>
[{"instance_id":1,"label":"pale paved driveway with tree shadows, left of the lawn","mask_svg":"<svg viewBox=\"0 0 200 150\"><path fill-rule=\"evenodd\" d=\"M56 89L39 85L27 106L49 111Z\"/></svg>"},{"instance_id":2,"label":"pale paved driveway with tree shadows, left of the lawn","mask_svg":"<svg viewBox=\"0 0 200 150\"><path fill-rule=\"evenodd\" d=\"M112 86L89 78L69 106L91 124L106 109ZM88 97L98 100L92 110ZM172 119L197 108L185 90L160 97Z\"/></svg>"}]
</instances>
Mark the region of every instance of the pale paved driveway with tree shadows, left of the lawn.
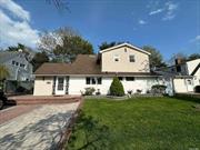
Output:
<instances>
[{"instance_id":1,"label":"pale paved driveway with tree shadows, left of the lawn","mask_svg":"<svg viewBox=\"0 0 200 150\"><path fill-rule=\"evenodd\" d=\"M79 102L43 104L1 123L0 149L57 149L69 119L78 106Z\"/></svg>"}]
</instances>

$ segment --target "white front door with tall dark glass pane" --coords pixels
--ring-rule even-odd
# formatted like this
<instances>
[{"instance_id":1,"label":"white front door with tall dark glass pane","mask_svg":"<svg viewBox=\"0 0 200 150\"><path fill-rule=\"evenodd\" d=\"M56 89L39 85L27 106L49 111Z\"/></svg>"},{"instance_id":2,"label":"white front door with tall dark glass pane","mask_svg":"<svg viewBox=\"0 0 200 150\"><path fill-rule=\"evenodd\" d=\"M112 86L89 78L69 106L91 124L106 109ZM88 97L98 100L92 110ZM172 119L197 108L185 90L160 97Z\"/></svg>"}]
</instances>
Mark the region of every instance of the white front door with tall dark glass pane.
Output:
<instances>
[{"instance_id":1,"label":"white front door with tall dark glass pane","mask_svg":"<svg viewBox=\"0 0 200 150\"><path fill-rule=\"evenodd\" d=\"M56 81L56 94L64 94L66 93L66 78L57 77Z\"/></svg>"}]
</instances>

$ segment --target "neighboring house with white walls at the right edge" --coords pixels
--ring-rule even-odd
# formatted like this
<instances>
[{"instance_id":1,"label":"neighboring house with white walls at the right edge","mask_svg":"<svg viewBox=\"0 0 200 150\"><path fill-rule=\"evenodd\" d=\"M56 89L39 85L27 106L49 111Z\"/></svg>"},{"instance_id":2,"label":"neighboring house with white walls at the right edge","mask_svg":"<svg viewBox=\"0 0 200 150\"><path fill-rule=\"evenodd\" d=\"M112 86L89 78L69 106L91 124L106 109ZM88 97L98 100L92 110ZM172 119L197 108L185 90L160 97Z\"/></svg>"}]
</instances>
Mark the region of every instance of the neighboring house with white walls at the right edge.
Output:
<instances>
[{"instance_id":1,"label":"neighboring house with white walls at the right edge","mask_svg":"<svg viewBox=\"0 0 200 150\"><path fill-rule=\"evenodd\" d=\"M176 60L176 64L166 71L157 71L164 78L172 78L174 92L193 92L194 87L200 84L200 59L191 61Z\"/></svg>"}]
</instances>

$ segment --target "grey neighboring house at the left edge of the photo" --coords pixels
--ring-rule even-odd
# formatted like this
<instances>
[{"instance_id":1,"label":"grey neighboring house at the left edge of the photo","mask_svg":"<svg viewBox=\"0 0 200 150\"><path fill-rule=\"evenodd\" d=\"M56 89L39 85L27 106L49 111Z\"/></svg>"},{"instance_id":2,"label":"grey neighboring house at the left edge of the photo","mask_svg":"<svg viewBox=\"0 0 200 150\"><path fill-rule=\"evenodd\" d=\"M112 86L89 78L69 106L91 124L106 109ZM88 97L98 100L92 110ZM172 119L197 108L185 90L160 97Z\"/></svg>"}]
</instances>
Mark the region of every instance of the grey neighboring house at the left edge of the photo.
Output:
<instances>
[{"instance_id":1,"label":"grey neighboring house at the left edge of the photo","mask_svg":"<svg viewBox=\"0 0 200 150\"><path fill-rule=\"evenodd\" d=\"M1 51L0 63L4 64L10 72L7 80L30 81L32 78L32 64L26 53L21 51Z\"/></svg>"}]
</instances>

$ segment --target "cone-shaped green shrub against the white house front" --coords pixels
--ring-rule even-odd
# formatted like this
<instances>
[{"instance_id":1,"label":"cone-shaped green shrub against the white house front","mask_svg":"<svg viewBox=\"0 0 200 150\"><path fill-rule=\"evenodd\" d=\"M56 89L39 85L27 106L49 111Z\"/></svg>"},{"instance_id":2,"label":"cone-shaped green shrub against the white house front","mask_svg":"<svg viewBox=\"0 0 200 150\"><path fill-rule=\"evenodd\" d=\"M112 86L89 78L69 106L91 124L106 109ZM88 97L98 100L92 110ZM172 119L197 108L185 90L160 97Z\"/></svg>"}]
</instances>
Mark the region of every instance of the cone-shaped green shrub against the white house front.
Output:
<instances>
[{"instance_id":1,"label":"cone-shaped green shrub against the white house front","mask_svg":"<svg viewBox=\"0 0 200 150\"><path fill-rule=\"evenodd\" d=\"M117 97L124 96L123 84L120 82L118 77L114 77L112 80L112 83L110 86L110 94Z\"/></svg>"}]
</instances>

